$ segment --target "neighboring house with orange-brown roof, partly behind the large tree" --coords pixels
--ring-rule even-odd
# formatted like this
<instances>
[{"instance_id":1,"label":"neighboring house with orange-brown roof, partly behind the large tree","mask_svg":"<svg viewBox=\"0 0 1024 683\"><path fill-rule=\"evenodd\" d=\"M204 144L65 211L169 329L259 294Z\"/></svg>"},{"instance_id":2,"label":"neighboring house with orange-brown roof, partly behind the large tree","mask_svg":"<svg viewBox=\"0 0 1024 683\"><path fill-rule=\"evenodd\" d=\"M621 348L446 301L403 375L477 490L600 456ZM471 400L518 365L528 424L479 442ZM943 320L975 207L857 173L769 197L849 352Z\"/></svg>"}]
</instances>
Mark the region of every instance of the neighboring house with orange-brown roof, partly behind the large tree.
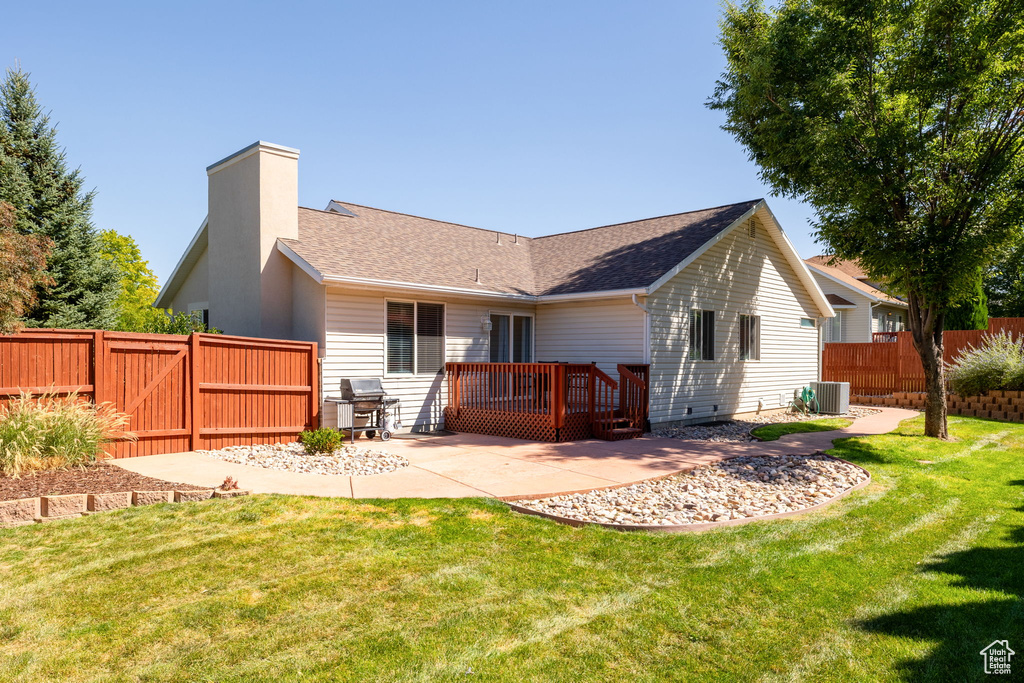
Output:
<instances>
[{"instance_id":1,"label":"neighboring house with orange-brown roof, partly behind the large tree","mask_svg":"<svg viewBox=\"0 0 1024 683\"><path fill-rule=\"evenodd\" d=\"M855 261L812 256L807 265L836 310L824 322L823 342L893 341L880 333L906 330L906 302L886 294Z\"/></svg>"}]
</instances>

